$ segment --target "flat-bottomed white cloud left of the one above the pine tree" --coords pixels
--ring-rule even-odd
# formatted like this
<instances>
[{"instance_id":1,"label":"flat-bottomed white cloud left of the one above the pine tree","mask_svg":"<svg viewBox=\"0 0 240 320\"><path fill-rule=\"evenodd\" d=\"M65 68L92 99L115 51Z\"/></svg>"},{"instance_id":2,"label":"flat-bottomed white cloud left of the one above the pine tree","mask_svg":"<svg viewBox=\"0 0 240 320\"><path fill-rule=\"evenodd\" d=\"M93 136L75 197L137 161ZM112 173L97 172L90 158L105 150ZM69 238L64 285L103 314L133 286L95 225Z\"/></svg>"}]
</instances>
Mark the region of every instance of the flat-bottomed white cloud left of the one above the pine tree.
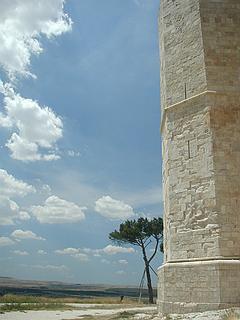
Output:
<instances>
[{"instance_id":1,"label":"flat-bottomed white cloud left of the one above the pine tree","mask_svg":"<svg viewBox=\"0 0 240 320\"><path fill-rule=\"evenodd\" d=\"M85 218L86 209L57 196L51 196L43 206L33 206L31 212L40 223L74 223Z\"/></svg>"}]
</instances>

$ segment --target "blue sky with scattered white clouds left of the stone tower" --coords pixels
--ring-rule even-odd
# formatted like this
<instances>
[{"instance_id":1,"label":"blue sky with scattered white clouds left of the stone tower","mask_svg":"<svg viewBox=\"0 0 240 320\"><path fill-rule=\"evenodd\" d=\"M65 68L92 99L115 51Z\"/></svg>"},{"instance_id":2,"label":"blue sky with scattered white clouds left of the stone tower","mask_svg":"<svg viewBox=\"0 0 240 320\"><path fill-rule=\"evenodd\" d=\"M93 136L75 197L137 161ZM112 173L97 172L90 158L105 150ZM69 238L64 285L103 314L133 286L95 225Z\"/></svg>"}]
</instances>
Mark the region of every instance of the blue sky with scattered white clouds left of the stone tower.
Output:
<instances>
[{"instance_id":1,"label":"blue sky with scattered white clouds left of the stone tower","mask_svg":"<svg viewBox=\"0 0 240 320\"><path fill-rule=\"evenodd\" d=\"M108 235L162 216L158 12L1 0L1 276L139 283L141 252Z\"/></svg>"}]
</instances>

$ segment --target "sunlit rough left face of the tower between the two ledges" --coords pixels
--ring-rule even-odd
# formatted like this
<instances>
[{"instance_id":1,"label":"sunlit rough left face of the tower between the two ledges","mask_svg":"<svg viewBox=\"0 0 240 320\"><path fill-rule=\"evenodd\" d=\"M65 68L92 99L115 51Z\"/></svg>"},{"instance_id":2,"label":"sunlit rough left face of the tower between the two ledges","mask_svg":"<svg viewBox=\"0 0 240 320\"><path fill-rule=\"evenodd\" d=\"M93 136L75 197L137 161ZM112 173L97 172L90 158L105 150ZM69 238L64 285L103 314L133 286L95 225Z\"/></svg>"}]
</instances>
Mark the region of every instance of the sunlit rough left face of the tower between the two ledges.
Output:
<instances>
[{"instance_id":1,"label":"sunlit rough left face of the tower between the two ledges","mask_svg":"<svg viewBox=\"0 0 240 320\"><path fill-rule=\"evenodd\" d=\"M163 131L165 260L219 256L207 95L168 110Z\"/></svg>"}]
</instances>

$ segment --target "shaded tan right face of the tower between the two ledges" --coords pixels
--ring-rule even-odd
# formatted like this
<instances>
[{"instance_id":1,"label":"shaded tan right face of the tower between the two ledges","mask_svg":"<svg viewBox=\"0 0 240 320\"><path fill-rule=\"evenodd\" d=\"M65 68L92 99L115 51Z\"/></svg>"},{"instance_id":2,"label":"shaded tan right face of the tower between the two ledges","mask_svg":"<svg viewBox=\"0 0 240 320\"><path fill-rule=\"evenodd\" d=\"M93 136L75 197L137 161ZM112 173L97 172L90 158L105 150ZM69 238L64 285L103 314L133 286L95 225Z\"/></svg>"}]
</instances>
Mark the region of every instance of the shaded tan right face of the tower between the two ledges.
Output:
<instances>
[{"instance_id":1,"label":"shaded tan right face of the tower between the two ledges","mask_svg":"<svg viewBox=\"0 0 240 320\"><path fill-rule=\"evenodd\" d=\"M211 96L219 253L240 259L240 95Z\"/></svg>"}]
</instances>

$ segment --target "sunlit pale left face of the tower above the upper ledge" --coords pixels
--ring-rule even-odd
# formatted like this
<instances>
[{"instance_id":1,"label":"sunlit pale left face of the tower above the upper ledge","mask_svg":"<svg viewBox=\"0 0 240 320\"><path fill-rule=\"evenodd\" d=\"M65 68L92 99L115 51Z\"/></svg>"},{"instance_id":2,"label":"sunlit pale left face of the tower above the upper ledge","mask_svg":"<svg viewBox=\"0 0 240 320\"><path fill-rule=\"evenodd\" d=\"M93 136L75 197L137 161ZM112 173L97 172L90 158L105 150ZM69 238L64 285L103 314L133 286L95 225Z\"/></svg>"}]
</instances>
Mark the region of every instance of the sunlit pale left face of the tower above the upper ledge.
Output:
<instances>
[{"instance_id":1,"label":"sunlit pale left face of the tower above the upper ledge","mask_svg":"<svg viewBox=\"0 0 240 320\"><path fill-rule=\"evenodd\" d=\"M159 30L165 108L206 90L199 0L162 0Z\"/></svg>"}]
</instances>

